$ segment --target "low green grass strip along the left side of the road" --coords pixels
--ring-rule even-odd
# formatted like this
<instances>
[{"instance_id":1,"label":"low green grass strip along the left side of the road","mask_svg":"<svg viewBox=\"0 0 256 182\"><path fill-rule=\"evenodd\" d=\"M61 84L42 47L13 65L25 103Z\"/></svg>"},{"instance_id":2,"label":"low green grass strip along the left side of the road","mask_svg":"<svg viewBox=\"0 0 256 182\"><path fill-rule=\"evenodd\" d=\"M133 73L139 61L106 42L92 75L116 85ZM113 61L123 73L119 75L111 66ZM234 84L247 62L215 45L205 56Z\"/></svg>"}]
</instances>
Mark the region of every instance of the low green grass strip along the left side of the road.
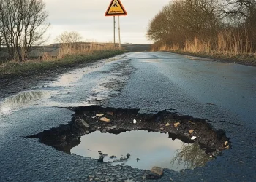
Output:
<instances>
[{"instance_id":1,"label":"low green grass strip along the left side of the road","mask_svg":"<svg viewBox=\"0 0 256 182\"><path fill-rule=\"evenodd\" d=\"M58 68L72 68L83 63L110 58L120 55L124 50L95 50L87 54L66 55L64 58L56 60L29 60L24 63L10 61L0 66L0 78L15 76L30 76L43 73L44 71L54 71Z\"/></svg>"}]
</instances>

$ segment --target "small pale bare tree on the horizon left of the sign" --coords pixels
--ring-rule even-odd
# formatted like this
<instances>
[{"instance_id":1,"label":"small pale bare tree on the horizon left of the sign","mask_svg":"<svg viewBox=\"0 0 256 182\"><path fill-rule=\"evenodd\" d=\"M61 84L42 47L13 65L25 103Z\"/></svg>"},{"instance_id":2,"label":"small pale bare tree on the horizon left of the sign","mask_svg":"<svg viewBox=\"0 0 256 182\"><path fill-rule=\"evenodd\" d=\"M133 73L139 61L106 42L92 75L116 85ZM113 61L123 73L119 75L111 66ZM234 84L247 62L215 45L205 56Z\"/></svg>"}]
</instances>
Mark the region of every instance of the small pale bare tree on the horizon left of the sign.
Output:
<instances>
[{"instance_id":1,"label":"small pale bare tree on the horizon left of the sign","mask_svg":"<svg viewBox=\"0 0 256 182\"><path fill-rule=\"evenodd\" d=\"M81 36L76 31L64 31L61 35L56 37L56 41L59 43L78 43L83 40L83 36Z\"/></svg>"}]
</instances>

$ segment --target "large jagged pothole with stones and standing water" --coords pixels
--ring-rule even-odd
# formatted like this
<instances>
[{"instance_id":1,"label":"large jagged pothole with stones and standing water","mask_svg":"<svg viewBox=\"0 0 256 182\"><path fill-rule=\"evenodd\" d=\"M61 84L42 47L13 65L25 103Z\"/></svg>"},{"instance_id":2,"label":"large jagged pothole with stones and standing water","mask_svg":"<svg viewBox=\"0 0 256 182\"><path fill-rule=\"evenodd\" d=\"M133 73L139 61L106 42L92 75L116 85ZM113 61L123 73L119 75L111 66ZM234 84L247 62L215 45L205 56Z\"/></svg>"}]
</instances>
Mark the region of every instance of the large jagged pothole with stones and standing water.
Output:
<instances>
[{"instance_id":1,"label":"large jagged pothole with stones and standing water","mask_svg":"<svg viewBox=\"0 0 256 182\"><path fill-rule=\"evenodd\" d=\"M205 119L169 111L140 114L139 110L86 106L72 121L29 138L59 151L102 159L112 165L150 170L193 169L230 149L225 132L214 130Z\"/></svg>"}]
</instances>

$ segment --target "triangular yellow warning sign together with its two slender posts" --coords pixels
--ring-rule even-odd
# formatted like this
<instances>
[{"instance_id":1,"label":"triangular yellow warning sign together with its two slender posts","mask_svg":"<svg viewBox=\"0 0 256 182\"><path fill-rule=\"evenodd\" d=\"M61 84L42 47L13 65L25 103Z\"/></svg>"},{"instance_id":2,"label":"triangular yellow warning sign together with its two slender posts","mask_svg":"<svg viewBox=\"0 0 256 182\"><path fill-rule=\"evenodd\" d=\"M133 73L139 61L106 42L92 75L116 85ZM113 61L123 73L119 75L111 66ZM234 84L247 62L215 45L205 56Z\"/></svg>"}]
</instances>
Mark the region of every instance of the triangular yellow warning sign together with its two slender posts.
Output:
<instances>
[{"instance_id":1,"label":"triangular yellow warning sign together with its two slender posts","mask_svg":"<svg viewBox=\"0 0 256 182\"><path fill-rule=\"evenodd\" d=\"M119 48L121 49L121 36L120 36L120 20L119 16L126 16L127 11L124 9L123 4L120 0L112 0L110 5L105 12L105 16L113 16L114 20L114 47L116 47L116 19L115 16L118 16L118 36L119 36Z\"/></svg>"}]
</instances>

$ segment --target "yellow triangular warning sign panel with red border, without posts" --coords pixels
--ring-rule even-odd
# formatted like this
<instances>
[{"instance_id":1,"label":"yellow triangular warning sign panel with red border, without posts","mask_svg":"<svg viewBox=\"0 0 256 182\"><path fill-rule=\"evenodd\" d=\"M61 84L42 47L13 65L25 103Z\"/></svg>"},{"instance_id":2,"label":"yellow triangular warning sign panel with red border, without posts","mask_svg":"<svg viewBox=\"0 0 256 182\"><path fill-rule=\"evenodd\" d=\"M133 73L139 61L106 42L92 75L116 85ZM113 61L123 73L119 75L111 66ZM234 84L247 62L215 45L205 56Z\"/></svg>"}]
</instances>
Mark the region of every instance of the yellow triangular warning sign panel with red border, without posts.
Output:
<instances>
[{"instance_id":1,"label":"yellow triangular warning sign panel with red border, without posts","mask_svg":"<svg viewBox=\"0 0 256 182\"><path fill-rule=\"evenodd\" d=\"M125 16L127 12L124 9L123 4L121 4L120 0L112 0L105 16Z\"/></svg>"}]
</instances>

